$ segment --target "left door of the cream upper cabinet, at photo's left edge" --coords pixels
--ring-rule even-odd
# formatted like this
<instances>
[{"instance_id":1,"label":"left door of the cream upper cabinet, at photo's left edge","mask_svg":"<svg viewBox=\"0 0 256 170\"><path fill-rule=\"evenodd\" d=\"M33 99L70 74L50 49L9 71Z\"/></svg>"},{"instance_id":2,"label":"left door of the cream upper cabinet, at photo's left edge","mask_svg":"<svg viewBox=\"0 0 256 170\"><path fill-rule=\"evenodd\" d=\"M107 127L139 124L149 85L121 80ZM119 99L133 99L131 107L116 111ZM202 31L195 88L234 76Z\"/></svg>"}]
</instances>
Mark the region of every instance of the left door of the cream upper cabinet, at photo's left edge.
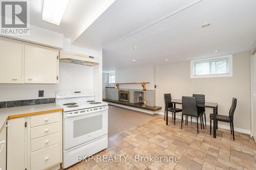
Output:
<instances>
[{"instance_id":1,"label":"left door of the cream upper cabinet, at photo's left edge","mask_svg":"<svg viewBox=\"0 0 256 170\"><path fill-rule=\"evenodd\" d=\"M0 40L0 83L22 83L23 45Z\"/></svg>"}]
</instances>

